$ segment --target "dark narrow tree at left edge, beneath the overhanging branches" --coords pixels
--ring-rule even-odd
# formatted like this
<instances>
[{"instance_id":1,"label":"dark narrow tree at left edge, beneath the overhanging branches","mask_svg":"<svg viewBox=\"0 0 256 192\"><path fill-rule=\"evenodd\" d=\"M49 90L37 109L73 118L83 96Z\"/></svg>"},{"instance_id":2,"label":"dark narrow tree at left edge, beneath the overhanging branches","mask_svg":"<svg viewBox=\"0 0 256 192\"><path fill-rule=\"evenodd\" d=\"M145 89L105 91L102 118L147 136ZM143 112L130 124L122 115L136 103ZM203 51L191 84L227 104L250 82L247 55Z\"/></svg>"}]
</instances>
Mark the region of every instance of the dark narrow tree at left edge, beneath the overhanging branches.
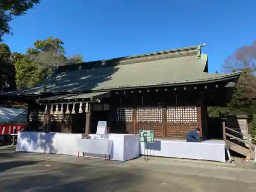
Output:
<instances>
[{"instance_id":1,"label":"dark narrow tree at left edge, beneath the overhanging branches","mask_svg":"<svg viewBox=\"0 0 256 192\"><path fill-rule=\"evenodd\" d=\"M15 89L15 68L12 65L10 48L6 44L0 44L0 92Z\"/></svg>"}]
</instances>

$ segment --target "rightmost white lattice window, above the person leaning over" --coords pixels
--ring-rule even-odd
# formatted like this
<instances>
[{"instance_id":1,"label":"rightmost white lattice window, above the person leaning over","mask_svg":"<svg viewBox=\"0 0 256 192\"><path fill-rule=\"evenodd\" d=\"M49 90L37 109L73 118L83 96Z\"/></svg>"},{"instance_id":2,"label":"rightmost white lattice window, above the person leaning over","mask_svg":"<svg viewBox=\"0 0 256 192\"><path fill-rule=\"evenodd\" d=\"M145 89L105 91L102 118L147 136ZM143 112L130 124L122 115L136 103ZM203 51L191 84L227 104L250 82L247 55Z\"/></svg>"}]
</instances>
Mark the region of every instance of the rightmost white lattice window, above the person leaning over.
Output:
<instances>
[{"instance_id":1,"label":"rightmost white lattice window, above the person leaning over","mask_svg":"<svg viewBox=\"0 0 256 192\"><path fill-rule=\"evenodd\" d=\"M197 122L196 106L169 106L167 107L167 121Z\"/></svg>"}]
</instances>

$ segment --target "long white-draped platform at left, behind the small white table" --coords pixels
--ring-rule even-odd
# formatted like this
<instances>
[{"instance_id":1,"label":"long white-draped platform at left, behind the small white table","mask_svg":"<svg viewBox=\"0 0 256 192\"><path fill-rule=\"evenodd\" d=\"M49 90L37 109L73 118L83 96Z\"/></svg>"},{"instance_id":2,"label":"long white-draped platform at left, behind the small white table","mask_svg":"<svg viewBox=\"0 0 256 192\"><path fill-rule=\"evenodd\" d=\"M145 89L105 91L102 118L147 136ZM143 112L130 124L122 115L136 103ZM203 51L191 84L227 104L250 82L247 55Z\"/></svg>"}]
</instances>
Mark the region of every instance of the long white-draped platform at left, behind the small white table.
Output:
<instances>
[{"instance_id":1,"label":"long white-draped platform at left, behind the small white table","mask_svg":"<svg viewBox=\"0 0 256 192\"><path fill-rule=\"evenodd\" d=\"M78 155L78 139L82 134L19 132L16 151ZM95 137L95 135L91 135ZM139 136L109 134L113 141L110 159L127 161L139 157ZM80 156L82 153L80 153ZM90 157L104 158L104 155L87 154Z\"/></svg>"}]
</instances>

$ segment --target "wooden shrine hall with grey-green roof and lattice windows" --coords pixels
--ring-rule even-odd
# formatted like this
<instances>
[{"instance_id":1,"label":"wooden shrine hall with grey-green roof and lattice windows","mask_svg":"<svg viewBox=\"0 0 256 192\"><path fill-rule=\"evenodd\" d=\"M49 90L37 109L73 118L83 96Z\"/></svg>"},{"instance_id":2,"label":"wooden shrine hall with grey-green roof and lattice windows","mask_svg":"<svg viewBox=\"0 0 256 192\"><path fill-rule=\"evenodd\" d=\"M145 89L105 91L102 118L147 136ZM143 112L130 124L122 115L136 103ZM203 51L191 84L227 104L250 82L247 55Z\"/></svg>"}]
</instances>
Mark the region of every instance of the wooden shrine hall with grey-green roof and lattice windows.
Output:
<instances>
[{"instance_id":1,"label":"wooden shrine hall with grey-green roof and lattice windows","mask_svg":"<svg viewBox=\"0 0 256 192\"><path fill-rule=\"evenodd\" d=\"M184 138L199 127L207 138L207 106L223 106L240 73L208 73L208 56L193 46L63 65L36 87L9 92L28 101L31 131L109 133Z\"/></svg>"}]
</instances>

